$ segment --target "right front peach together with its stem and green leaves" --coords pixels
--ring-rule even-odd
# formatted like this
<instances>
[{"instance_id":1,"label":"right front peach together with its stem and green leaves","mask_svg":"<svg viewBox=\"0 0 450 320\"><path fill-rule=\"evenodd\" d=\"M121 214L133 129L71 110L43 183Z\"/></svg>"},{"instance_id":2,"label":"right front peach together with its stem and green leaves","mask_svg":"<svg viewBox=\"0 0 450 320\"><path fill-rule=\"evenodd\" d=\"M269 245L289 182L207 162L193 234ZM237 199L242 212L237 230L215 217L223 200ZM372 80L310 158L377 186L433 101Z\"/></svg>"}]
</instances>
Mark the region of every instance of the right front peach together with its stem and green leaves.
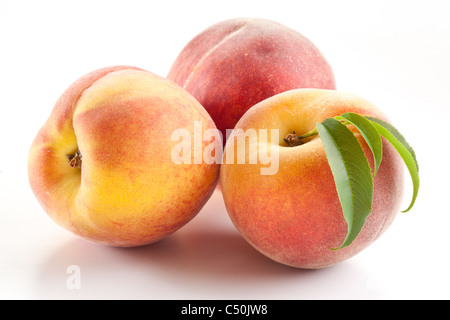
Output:
<instances>
[{"instance_id":1,"label":"right front peach together with its stem and green leaves","mask_svg":"<svg viewBox=\"0 0 450 320\"><path fill-rule=\"evenodd\" d=\"M229 216L242 236L269 258L316 269L367 248L392 224L403 203L404 166L419 188L414 151L386 115L358 96L334 90L297 89L253 106L234 132L278 130L261 139L278 154L278 171L266 165L224 162L220 183ZM250 148L229 137L224 150Z\"/></svg>"}]
</instances>

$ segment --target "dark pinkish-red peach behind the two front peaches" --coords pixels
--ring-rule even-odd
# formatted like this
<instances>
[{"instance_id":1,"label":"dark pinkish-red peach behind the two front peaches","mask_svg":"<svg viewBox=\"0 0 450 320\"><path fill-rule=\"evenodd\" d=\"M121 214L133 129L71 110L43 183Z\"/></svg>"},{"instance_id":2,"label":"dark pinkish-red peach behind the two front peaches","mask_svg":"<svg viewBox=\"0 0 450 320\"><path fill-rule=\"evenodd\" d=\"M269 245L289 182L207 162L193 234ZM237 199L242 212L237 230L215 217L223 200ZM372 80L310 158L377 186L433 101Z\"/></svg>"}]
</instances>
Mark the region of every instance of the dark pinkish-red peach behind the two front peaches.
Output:
<instances>
[{"instance_id":1,"label":"dark pinkish-red peach behind the two front peaches","mask_svg":"<svg viewBox=\"0 0 450 320\"><path fill-rule=\"evenodd\" d=\"M264 19L207 28L185 46L167 77L205 107L224 142L226 129L266 98L297 88L335 89L331 67L311 41Z\"/></svg>"}]
</instances>

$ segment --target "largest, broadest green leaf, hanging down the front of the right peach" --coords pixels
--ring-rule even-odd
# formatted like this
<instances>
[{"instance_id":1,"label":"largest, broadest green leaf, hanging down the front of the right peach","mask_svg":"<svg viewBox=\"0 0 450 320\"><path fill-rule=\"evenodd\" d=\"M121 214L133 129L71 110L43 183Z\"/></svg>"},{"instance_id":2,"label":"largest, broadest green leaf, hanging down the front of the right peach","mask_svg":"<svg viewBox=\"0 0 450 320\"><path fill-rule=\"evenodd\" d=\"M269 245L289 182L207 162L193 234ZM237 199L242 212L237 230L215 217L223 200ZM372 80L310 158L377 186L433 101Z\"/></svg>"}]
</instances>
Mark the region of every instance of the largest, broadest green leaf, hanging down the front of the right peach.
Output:
<instances>
[{"instance_id":1,"label":"largest, broadest green leaf, hanging down the front of the right peach","mask_svg":"<svg viewBox=\"0 0 450 320\"><path fill-rule=\"evenodd\" d=\"M336 250L353 242L372 211L373 178L359 141L344 124L328 118L317 124L317 130L348 225L347 236Z\"/></svg>"}]
</instances>

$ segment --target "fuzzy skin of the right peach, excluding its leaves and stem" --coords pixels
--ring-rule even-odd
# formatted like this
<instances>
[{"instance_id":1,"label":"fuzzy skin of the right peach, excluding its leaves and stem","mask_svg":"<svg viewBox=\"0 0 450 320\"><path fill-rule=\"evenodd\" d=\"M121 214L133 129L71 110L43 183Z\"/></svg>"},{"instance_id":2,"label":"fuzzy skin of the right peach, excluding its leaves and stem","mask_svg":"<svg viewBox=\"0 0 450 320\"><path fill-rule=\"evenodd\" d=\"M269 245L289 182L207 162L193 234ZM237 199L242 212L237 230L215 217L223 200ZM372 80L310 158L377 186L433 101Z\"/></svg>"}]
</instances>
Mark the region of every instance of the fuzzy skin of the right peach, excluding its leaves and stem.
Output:
<instances>
[{"instance_id":1,"label":"fuzzy skin of the right peach, excluding its leaves and stem","mask_svg":"<svg viewBox=\"0 0 450 320\"><path fill-rule=\"evenodd\" d=\"M288 147L283 137L314 129L318 122L345 112L356 112L388 121L370 102L334 90L298 89L266 99L252 107L236 128L279 129L279 141L269 150L279 152L279 170L261 175L262 164L227 164L221 167L220 185L231 220L242 236L267 257L293 267L324 268L356 255L391 225L403 196L403 162L383 139L383 161L374 179L372 212L356 240L339 247L347 234L334 178L319 136ZM373 156L362 136L349 127L361 143L373 170ZM230 152L230 136L224 157ZM263 142L262 142L263 143ZM237 154L237 144L234 145ZM245 150L248 156L247 148Z\"/></svg>"}]
</instances>

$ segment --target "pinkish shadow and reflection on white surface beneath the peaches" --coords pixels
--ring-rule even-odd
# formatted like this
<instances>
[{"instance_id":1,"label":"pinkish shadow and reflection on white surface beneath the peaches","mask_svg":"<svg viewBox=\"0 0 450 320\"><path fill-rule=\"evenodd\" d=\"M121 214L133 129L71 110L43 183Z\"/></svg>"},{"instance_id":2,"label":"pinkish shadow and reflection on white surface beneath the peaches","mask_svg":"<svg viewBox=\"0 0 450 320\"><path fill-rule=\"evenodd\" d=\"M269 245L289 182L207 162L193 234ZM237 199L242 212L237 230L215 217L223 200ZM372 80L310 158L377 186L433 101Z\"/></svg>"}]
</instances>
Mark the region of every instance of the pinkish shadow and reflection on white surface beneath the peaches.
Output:
<instances>
[{"instance_id":1,"label":"pinkish shadow and reflection on white surface beneath the peaches","mask_svg":"<svg viewBox=\"0 0 450 320\"><path fill-rule=\"evenodd\" d=\"M332 269L300 270L264 257L237 233L224 210L216 191L186 228L139 248L69 239L55 246L39 267L33 294L45 299L300 299L326 295L318 284L323 281L344 285ZM66 272L69 266L81 271L79 290L67 287L67 279L73 276ZM355 282L357 291L376 297L377 290L367 285L368 275L351 263L346 268L344 273L360 278ZM287 291L275 289L292 283L296 286Z\"/></svg>"}]
</instances>

